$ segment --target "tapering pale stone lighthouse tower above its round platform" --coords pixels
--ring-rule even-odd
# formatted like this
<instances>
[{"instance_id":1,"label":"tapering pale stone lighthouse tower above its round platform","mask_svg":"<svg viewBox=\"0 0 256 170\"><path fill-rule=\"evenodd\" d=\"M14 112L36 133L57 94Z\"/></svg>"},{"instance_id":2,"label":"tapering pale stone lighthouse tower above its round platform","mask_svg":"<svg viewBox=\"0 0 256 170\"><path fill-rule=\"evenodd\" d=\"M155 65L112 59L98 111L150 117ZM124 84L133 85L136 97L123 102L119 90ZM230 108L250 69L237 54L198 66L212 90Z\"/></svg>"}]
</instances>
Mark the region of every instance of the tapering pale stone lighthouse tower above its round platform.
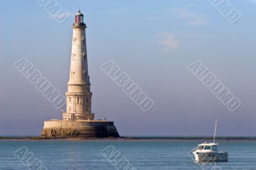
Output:
<instances>
[{"instance_id":1,"label":"tapering pale stone lighthouse tower above its round platform","mask_svg":"<svg viewBox=\"0 0 256 170\"><path fill-rule=\"evenodd\" d=\"M72 54L70 62L70 76L68 81L67 113L63 113L63 120L93 120L91 112L92 92L90 91L90 76L86 52L86 24L83 13L76 14L73 24Z\"/></svg>"}]
</instances>

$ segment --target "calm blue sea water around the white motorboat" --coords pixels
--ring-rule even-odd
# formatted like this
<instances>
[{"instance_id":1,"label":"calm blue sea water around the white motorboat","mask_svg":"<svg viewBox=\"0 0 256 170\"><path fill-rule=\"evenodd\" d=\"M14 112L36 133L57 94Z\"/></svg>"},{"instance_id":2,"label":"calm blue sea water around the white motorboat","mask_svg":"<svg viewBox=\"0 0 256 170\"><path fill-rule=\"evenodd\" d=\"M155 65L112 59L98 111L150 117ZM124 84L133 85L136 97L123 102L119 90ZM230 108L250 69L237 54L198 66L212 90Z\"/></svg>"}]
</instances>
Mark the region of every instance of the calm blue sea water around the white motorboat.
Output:
<instances>
[{"instance_id":1,"label":"calm blue sea water around the white motorboat","mask_svg":"<svg viewBox=\"0 0 256 170\"><path fill-rule=\"evenodd\" d=\"M23 164L13 155L22 147L33 153L31 160L37 158L47 169L116 169L111 164L113 158L109 162L100 153L107 147L107 157L115 149L120 152L116 160L126 158L136 169L256 169L255 141L217 142L229 155L228 162L214 165L197 164L189 153L198 143L204 143L202 140L0 140L0 169L28 169L28 157ZM24 154L20 151L18 155Z\"/></svg>"}]
</instances>

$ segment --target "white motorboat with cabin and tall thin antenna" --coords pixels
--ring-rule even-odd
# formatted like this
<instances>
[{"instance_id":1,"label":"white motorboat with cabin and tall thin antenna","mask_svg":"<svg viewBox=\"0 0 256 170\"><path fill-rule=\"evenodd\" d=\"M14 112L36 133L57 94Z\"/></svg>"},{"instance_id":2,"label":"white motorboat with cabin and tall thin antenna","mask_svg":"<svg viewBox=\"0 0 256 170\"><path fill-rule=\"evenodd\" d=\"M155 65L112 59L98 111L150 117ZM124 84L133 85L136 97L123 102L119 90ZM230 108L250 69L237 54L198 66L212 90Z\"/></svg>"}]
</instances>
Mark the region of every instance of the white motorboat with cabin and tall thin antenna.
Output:
<instances>
[{"instance_id":1,"label":"white motorboat with cabin and tall thin antenna","mask_svg":"<svg viewBox=\"0 0 256 170\"><path fill-rule=\"evenodd\" d=\"M212 161L228 161L228 153L218 150L218 143L215 143L216 125L214 131L213 143L198 144L196 150L193 151L196 162L212 162Z\"/></svg>"}]
</instances>

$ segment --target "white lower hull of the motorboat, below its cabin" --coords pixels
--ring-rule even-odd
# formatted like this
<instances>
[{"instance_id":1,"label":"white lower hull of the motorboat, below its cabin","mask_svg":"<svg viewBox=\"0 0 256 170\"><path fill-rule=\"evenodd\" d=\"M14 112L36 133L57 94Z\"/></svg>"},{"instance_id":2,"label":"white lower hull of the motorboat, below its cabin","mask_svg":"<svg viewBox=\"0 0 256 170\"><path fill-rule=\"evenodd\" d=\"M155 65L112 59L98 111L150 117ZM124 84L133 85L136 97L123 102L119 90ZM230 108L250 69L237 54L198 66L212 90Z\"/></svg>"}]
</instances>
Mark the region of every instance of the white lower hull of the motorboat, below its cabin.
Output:
<instances>
[{"instance_id":1,"label":"white lower hull of the motorboat, below its cabin","mask_svg":"<svg viewBox=\"0 0 256 170\"><path fill-rule=\"evenodd\" d=\"M196 162L227 162L228 153L214 153L214 152L193 152Z\"/></svg>"}]
</instances>

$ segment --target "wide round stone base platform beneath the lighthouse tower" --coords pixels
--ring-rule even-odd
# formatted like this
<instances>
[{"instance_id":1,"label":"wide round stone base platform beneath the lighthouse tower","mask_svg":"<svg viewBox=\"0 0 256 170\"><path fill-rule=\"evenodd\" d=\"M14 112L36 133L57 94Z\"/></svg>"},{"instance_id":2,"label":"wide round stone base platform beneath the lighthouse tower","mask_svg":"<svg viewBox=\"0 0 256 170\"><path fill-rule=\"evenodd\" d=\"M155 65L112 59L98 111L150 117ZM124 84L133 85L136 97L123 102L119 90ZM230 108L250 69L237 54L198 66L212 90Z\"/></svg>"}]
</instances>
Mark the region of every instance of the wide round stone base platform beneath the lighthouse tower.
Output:
<instances>
[{"instance_id":1,"label":"wide round stone base platform beneath the lighthouse tower","mask_svg":"<svg viewBox=\"0 0 256 170\"><path fill-rule=\"evenodd\" d=\"M113 121L44 121L42 138L120 137Z\"/></svg>"}]
</instances>

